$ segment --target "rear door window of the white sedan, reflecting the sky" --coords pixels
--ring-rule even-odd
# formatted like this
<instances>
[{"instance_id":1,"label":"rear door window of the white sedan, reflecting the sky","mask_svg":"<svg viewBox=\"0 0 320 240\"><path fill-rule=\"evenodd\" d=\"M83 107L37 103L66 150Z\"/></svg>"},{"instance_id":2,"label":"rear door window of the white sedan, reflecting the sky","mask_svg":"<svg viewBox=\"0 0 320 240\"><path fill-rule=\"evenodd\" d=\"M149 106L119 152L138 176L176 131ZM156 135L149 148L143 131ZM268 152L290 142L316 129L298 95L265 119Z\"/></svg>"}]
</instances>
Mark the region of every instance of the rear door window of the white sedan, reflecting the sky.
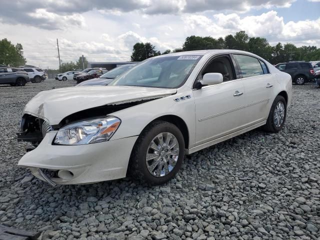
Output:
<instances>
[{"instance_id":1,"label":"rear door window of the white sedan, reflecting the sky","mask_svg":"<svg viewBox=\"0 0 320 240\"><path fill-rule=\"evenodd\" d=\"M263 70L259 60L252 56L234 54L240 67L242 77L263 75Z\"/></svg>"}]
</instances>

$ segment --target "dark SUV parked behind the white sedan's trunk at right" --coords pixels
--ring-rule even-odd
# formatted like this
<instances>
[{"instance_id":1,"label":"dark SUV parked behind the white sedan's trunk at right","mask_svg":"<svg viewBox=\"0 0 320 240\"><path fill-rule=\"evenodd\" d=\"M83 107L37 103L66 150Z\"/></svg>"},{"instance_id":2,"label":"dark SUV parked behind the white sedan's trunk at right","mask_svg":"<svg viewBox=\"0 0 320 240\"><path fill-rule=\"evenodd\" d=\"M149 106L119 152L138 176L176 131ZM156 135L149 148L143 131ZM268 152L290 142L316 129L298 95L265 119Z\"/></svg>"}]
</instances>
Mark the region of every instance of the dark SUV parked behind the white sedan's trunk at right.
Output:
<instances>
[{"instance_id":1,"label":"dark SUV parked behind the white sedan's trunk at right","mask_svg":"<svg viewBox=\"0 0 320 240\"><path fill-rule=\"evenodd\" d=\"M278 63L275 65L280 71L289 73L292 78L292 82L298 85L302 85L314 79L314 70L310 62L306 61L289 61Z\"/></svg>"}]
</instances>

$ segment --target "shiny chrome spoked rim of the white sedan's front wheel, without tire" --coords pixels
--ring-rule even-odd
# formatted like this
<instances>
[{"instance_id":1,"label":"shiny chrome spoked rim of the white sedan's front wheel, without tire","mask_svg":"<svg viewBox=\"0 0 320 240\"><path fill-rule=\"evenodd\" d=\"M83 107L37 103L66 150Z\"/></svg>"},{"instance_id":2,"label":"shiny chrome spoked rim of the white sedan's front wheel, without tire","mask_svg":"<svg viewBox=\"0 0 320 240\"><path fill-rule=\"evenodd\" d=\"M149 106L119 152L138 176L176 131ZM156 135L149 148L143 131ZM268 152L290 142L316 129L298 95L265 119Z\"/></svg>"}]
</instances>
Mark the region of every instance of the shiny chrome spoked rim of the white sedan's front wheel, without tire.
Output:
<instances>
[{"instance_id":1,"label":"shiny chrome spoked rim of the white sedan's front wheel, without tire","mask_svg":"<svg viewBox=\"0 0 320 240\"><path fill-rule=\"evenodd\" d=\"M169 174L179 157L179 143L170 132L157 134L149 143L145 161L148 171L156 177Z\"/></svg>"}]
</instances>

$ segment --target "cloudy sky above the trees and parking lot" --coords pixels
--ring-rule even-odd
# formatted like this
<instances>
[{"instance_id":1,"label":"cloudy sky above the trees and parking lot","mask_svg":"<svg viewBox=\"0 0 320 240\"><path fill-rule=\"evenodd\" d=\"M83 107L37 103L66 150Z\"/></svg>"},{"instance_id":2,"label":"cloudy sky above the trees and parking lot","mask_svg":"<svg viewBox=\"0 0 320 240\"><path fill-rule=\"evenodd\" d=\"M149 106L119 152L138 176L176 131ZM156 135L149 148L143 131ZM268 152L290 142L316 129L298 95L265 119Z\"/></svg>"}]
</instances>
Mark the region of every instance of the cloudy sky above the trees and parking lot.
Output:
<instances>
[{"instance_id":1,"label":"cloudy sky above the trees and parking lot","mask_svg":"<svg viewBox=\"0 0 320 240\"><path fill-rule=\"evenodd\" d=\"M0 0L0 39L43 68L58 68L56 38L62 62L129 60L137 41L164 51L239 30L320 47L319 10L320 0Z\"/></svg>"}]
</instances>

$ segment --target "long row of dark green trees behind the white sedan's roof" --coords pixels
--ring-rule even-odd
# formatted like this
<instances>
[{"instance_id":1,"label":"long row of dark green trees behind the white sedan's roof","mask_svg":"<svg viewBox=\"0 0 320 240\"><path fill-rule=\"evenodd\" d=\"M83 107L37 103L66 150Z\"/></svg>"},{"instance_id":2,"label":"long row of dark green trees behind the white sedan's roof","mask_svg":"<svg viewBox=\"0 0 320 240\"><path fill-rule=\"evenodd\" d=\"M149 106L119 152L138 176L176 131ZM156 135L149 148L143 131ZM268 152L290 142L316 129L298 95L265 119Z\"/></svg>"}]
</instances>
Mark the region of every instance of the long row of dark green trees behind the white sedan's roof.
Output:
<instances>
[{"instance_id":1,"label":"long row of dark green trees behind the white sedan's roof","mask_svg":"<svg viewBox=\"0 0 320 240\"><path fill-rule=\"evenodd\" d=\"M292 43L282 44L278 42L271 46L264 37L249 37L245 31L238 31L234 35L229 34L224 38L211 36L191 35L185 38L180 48L172 52L204 50L204 49L237 49L252 52L261 56L272 64L292 60L320 60L320 48L316 46L297 47ZM160 52L150 42L137 42L133 45L131 61L142 61L146 58L170 53L171 50Z\"/></svg>"}]
</instances>

